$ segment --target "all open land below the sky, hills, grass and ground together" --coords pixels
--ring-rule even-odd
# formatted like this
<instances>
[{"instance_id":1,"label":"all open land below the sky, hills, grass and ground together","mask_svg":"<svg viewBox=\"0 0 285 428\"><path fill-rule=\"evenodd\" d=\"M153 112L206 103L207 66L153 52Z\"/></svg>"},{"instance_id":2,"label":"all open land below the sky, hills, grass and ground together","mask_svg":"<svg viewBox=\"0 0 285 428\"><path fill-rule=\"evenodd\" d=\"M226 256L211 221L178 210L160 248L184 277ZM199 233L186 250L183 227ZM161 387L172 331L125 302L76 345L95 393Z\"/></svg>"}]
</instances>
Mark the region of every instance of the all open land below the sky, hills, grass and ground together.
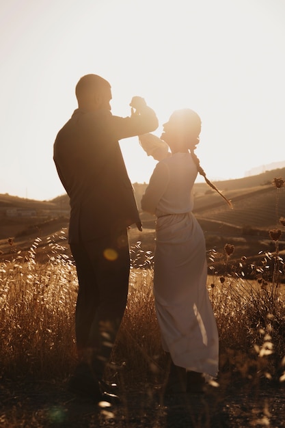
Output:
<instances>
[{"instance_id":1,"label":"all open land below the sky, hills, grass and ground together","mask_svg":"<svg viewBox=\"0 0 285 428\"><path fill-rule=\"evenodd\" d=\"M68 217L3 216L9 235L0 241L1 426L285 427L285 188L276 182L227 186L233 210L202 185L196 189L220 340L219 376L203 397L167 400L161 393L167 363L152 297L154 217L141 216L144 232L129 231L128 305L107 372L120 383L123 401L109 408L77 401L66 390L76 363L77 295ZM8 200L15 202L3 196L0 207ZM30 209L29 201L20 202ZM64 212L63 200L34 205L58 211L58 203Z\"/></svg>"}]
</instances>

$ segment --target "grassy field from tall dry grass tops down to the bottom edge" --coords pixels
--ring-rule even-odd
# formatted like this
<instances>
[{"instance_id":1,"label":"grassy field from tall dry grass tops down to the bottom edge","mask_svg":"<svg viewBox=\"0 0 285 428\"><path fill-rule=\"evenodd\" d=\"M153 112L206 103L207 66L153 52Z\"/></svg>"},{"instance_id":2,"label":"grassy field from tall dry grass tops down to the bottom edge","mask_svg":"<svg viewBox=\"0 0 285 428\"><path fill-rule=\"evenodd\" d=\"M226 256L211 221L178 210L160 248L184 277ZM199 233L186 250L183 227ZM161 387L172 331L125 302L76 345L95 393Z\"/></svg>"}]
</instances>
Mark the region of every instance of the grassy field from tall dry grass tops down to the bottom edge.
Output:
<instances>
[{"instance_id":1,"label":"grassy field from tall dry grass tops down to the bottom edge","mask_svg":"<svg viewBox=\"0 0 285 428\"><path fill-rule=\"evenodd\" d=\"M65 237L64 233L62 237ZM61 390L59 402L60 408L65 409L65 414L70 412L70 401L73 411L78 405L62 392L77 358L74 344L77 276L68 256L66 241L65 239L61 241L62 245L59 245L55 237L49 238L46 243L46 253L49 254L47 263L36 261L41 243L40 239L36 239L25 257L18 253L14 255L14 260L0 265L2 326L0 399L3 398L4 404L0 407L0 420L3 427L113 426L111 423L115 418L114 415L110 416L110 425L106 418L103 418L104 423L101 420L101 425L92 425L90 422L92 418L88 413L90 407L88 412L84 407L82 415L80 406L77 411L86 425L85 423L80 425L78 421L77 425L72 425L71 422L70 425L64 425L67 416L61 423L55 424L54 418L57 414L51 416L50 407L46 404L51 400L53 388L53 394L54 390L57 394ZM228 253L231 249L226 248ZM229 264L231 256L228 253L224 254L226 265ZM217 276L213 269L213 274L208 276L207 288L219 330L219 376L212 383L211 392L206 395L203 402L196 403L195 407L196 411L208 412L208 422L205 420L203 423L199 422L197 419L199 414L193 414L191 407L191 418L193 415L196 417L194 425L167 425L166 410L161 414L159 413L161 405L154 407L153 404L155 392L163 386L167 365L165 354L161 349L159 327L154 311L152 253L142 250L139 241L131 247L131 254L133 266L128 304L118 342L113 350L113 364L107 373L110 380L119 380L125 390L126 401L130 403L131 399L137 406L136 394L146 394L144 412L148 404L152 403L150 409L153 413L155 408L157 412L155 417L158 421L157 425L153 426L161 428L245 427L262 424L272 427L284 426L282 425L284 408L280 406L280 414L277 414L276 410L274 413L276 403L274 407L269 400L270 394L274 394L274 397L283 394L285 380L285 295L278 277L271 278L269 282L262 279L262 272L259 271L256 272L254 280L245 280L243 269L229 270L225 276ZM246 260L243 261L246 265ZM210 267L212 262L213 254L209 258ZM144 267L134 267L135 265ZM31 393L29 389L31 385L36 388L36 392L33 390ZM239 386L238 395L236 389L233 389L236 385ZM46 396L48 394L46 391L49 391L50 395ZM31 405L31 397L34 399L35 394L36 403ZM16 399L18 407L15 407L15 404L11 405L15 403L15 397L18 397ZM39 401L38 397L44 398ZM232 404L227 410L224 406L228 403L229 397ZM139 403L142 405L141 401ZM163 409L174 410L173 403L166 404L163 403ZM189 405L188 403L187 412L190 412ZM184 418L189 418L189 414L185 414L185 403L180 401L174 408L180 409L180 416L184 414ZM252 412L253 409L256 410L255 413ZM127 412L126 408L118 410L116 427L152 426L149 418L146 418L145 425L139 425L144 419L141 416L140 423L132 425L129 419L128 425L124 425L124 412ZM128 414L130 412L128 409ZM219 423L224 421L226 425L215 425L217 420ZM245 423L250 425L243 425ZM273 425L270 425L271 423Z\"/></svg>"}]
</instances>

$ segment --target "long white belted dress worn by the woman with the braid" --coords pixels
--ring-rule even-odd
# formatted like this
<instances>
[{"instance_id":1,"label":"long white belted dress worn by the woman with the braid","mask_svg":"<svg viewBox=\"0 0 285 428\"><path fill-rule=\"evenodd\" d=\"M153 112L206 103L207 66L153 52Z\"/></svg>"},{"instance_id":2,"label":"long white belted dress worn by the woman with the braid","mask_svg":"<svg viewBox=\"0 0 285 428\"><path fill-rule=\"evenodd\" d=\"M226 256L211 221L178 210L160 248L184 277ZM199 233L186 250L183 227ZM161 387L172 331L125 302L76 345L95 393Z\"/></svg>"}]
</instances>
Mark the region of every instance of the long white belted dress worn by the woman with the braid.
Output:
<instances>
[{"instance_id":1,"label":"long white belted dress worn by the woman with the braid","mask_svg":"<svg viewBox=\"0 0 285 428\"><path fill-rule=\"evenodd\" d=\"M154 299L163 349L176 366L215 377L219 337L206 289L206 245L191 212L197 174L190 153L157 163L141 208L157 215Z\"/></svg>"}]
</instances>

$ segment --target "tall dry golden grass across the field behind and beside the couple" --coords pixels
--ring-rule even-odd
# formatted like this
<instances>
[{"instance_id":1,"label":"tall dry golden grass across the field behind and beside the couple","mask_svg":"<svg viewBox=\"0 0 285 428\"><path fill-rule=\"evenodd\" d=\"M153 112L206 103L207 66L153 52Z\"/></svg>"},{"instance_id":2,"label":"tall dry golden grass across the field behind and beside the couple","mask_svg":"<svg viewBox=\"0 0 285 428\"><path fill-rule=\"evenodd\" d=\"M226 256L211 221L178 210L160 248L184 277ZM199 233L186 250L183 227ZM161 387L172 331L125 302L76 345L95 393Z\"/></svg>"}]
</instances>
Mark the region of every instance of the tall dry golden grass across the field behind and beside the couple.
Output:
<instances>
[{"instance_id":1,"label":"tall dry golden grass across the field behind and beside the couple","mask_svg":"<svg viewBox=\"0 0 285 428\"><path fill-rule=\"evenodd\" d=\"M243 388L257 391L264 388L264 382L282 386L285 381L285 296L280 283L284 260L279 252L278 230L270 231L275 252L263 254L262 265L250 265L246 258L237 265L232 264L232 243L225 245L222 254L214 250L208 253L212 275L208 276L207 286L220 338L220 372L215 387L221 396L234 382L242 382ZM74 367L74 308L78 285L65 239L64 232L47 239L46 263L37 261L40 245L42 254L42 242L38 238L25 257L19 251L12 261L3 261L0 265L0 376L3 379L24 376L25 379L63 380ZM152 253L137 242L131 248L131 255L128 304L113 349L114 364L109 375L115 371L128 388L141 384L151 388L161 384L165 375L165 355L152 295ZM216 258L220 258L222 271L215 264ZM245 275L249 271L252 279ZM239 410L235 416L238 418ZM269 426L269 412L262 418L256 419L263 420L259 425ZM7 420L1 412L0 420ZM5 426L22 425L15 421Z\"/></svg>"}]
</instances>

